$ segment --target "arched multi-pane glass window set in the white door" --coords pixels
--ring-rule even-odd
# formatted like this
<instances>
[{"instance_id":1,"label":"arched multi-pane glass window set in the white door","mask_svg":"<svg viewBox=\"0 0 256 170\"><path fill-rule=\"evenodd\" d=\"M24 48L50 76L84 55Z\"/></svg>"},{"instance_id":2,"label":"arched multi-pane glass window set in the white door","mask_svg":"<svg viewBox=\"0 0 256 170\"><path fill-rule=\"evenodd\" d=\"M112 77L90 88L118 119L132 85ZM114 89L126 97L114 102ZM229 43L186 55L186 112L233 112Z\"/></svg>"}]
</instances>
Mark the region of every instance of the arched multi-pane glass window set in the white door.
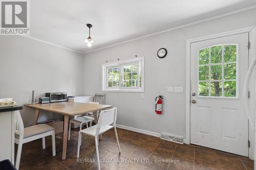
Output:
<instances>
[{"instance_id":1,"label":"arched multi-pane glass window set in the white door","mask_svg":"<svg viewBox=\"0 0 256 170\"><path fill-rule=\"evenodd\" d=\"M198 96L237 98L237 49L237 44L219 44L198 51Z\"/></svg>"}]
</instances>

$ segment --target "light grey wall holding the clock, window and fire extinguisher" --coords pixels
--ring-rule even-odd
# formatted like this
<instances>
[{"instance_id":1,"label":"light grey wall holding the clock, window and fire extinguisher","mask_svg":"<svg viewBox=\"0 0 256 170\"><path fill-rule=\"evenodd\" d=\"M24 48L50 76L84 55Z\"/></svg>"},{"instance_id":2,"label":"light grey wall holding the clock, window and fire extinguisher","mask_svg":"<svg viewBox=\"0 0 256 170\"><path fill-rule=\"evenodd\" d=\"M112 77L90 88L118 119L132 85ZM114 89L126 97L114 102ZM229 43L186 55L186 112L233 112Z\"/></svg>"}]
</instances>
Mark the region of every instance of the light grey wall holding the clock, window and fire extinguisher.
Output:
<instances>
[{"instance_id":1,"label":"light grey wall holding the clock, window and fire extinguisher","mask_svg":"<svg viewBox=\"0 0 256 170\"><path fill-rule=\"evenodd\" d=\"M256 9L205 21L84 55L84 93L101 91L101 64L145 57L144 99L137 92L105 92L106 103L118 108L117 124L185 137L185 92L167 93L167 87L185 91L186 40L256 25ZM159 26L161 27L161 26ZM168 51L157 57L159 48ZM164 96L163 114L155 114L155 98Z\"/></svg>"}]
</instances>

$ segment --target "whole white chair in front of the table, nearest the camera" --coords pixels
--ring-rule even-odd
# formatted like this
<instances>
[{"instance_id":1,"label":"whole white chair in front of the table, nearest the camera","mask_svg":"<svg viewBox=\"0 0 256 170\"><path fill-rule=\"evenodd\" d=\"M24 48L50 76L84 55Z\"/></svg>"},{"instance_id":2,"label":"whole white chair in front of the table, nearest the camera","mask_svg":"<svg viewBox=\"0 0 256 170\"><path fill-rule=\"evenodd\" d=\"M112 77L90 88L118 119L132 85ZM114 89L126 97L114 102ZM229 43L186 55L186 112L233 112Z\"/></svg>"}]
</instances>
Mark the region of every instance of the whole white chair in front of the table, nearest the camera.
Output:
<instances>
[{"instance_id":1,"label":"whole white chair in front of the table, nearest the camera","mask_svg":"<svg viewBox=\"0 0 256 170\"><path fill-rule=\"evenodd\" d=\"M95 137L95 147L96 147L96 155L97 155L97 161L98 161L98 169L100 169L100 159L99 159L99 135L110 130L111 128L114 128L115 135L116 135L116 141L118 144L119 153L121 153L120 145L118 141L118 136L116 132L116 115L117 115L117 108L113 108L110 110L103 110L100 112L99 115L99 121L97 125L94 125L92 127L89 127L87 129L83 129L79 131L78 135L78 146L77 146L77 158L79 158L79 150L82 140L82 133L91 135Z\"/></svg>"}]
</instances>

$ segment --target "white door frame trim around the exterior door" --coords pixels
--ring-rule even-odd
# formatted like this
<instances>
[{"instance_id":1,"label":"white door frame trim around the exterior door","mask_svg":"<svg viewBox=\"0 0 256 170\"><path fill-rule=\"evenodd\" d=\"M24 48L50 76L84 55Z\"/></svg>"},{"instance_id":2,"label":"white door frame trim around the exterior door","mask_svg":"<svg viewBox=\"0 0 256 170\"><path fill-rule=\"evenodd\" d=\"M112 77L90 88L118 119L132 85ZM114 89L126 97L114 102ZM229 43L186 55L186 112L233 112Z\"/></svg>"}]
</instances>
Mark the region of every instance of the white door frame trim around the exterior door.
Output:
<instances>
[{"instance_id":1,"label":"white door frame trim around the exterior door","mask_svg":"<svg viewBox=\"0 0 256 170\"><path fill-rule=\"evenodd\" d=\"M221 38L221 37L226 37L226 36L231 36L231 35L237 35L237 34L243 34L243 33L249 33L253 27L247 27L243 29L237 29L237 30L232 30L228 32L223 32L223 33L218 33L218 34L211 34L203 37L198 37L198 38L193 38L193 39L188 39L186 40L186 138L185 138L185 143L190 144L190 59L191 59L191 43L195 42L200 42L200 41L205 41L205 40L210 40L210 39L215 39L215 38ZM249 139L251 141L251 144L253 142L253 138L250 137L250 130L251 128L248 128L249 130ZM249 158L253 154L251 154L250 151L251 147L249 148Z\"/></svg>"}]
</instances>

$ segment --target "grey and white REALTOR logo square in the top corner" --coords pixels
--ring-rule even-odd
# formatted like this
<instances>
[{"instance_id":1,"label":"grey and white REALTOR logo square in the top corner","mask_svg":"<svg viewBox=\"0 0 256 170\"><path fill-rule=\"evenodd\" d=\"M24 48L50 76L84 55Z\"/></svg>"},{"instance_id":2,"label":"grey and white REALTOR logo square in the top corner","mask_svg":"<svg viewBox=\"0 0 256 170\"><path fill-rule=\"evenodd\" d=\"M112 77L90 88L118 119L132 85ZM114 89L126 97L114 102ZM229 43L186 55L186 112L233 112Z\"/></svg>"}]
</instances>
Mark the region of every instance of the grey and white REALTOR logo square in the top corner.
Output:
<instances>
[{"instance_id":1,"label":"grey and white REALTOR logo square in the top corner","mask_svg":"<svg viewBox=\"0 0 256 170\"><path fill-rule=\"evenodd\" d=\"M28 0L1 0L0 35L29 35Z\"/></svg>"}]
</instances>

